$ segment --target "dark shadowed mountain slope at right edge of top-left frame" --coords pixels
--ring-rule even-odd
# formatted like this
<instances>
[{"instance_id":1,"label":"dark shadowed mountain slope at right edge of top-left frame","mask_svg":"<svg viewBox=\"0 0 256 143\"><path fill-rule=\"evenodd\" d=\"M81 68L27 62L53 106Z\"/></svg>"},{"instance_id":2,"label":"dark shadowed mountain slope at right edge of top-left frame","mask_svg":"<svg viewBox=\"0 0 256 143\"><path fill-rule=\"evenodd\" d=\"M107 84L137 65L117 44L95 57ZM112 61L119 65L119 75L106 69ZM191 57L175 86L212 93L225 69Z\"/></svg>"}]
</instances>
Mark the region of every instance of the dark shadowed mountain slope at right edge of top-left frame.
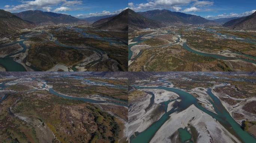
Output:
<instances>
[{"instance_id":1,"label":"dark shadowed mountain slope at right edge of top-left frame","mask_svg":"<svg viewBox=\"0 0 256 143\"><path fill-rule=\"evenodd\" d=\"M100 19L92 24L93 27L101 30L128 30L128 9L119 13L119 15Z\"/></svg>"}]
</instances>

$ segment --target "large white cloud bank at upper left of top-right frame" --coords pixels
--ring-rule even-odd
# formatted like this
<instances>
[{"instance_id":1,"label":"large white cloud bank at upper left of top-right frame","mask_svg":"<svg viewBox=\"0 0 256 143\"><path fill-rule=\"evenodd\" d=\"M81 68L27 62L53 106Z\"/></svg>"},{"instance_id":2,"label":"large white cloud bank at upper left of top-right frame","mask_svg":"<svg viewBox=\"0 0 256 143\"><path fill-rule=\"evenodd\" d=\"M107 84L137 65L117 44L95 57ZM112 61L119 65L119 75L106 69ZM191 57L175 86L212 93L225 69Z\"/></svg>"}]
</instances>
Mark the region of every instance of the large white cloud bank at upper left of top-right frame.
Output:
<instances>
[{"instance_id":1,"label":"large white cloud bank at upper left of top-right frame","mask_svg":"<svg viewBox=\"0 0 256 143\"><path fill-rule=\"evenodd\" d=\"M147 3L128 3L130 9L134 11L153 10L153 9L171 9L174 11L182 10L181 6L203 7L213 5L212 1L199 0L149 0ZM191 7L191 8L192 8ZM191 8L187 9L190 10ZM192 8L193 12L198 11L198 8Z\"/></svg>"}]
</instances>

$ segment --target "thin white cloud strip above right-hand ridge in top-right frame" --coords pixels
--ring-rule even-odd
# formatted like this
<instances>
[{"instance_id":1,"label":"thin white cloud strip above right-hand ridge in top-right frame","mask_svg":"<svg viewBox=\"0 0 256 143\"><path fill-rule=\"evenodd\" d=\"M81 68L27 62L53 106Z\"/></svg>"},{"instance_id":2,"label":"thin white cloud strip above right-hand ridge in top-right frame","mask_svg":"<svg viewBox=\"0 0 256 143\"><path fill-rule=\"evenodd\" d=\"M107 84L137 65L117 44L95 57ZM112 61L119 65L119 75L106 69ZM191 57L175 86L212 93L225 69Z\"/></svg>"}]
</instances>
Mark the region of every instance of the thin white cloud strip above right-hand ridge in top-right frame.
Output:
<instances>
[{"instance_id":1,"label":"thin white cloud strip above right-hand ridge in top-right frame","mask_svg":"<svg viewBox=\"0 0 256 143\"><path fill-rule=\"evenodd\" d=\"M248 16L256 12L256 10L248 11L248 12L243 12L243 13L229 13L229 14L221 14L217 16L205 16L207 19L219 19L219 18L233 18L233 17L243 17L243 16Z\"/></svg>"}]
</instances>

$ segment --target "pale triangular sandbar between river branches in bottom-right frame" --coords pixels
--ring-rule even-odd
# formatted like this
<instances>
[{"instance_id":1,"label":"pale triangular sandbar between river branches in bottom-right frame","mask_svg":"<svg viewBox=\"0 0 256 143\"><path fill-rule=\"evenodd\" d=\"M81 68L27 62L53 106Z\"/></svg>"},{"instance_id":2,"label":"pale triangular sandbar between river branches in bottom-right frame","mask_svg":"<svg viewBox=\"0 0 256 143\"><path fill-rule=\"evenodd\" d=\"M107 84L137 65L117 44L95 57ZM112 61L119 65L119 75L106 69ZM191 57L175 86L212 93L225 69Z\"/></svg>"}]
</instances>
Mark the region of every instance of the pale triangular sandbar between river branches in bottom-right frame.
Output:
<instances>
[{"instance_id":1,"label":"pale triangular sandbar between river branches in bottom-right frame","mask_svg":"<svg viewBox=\"0 0 256 143\"><path fill-rule=\"evenodd\" d=\"M235 140L240 143L240 141L222 127L219 122L214 120L210 115L196 108L195 105L191 105L184 111L174 112L171 114L170 119L167 120L161 128L159 128L150 143L169 143L170 137L179 128L189 128L189 126L195 127L196 132L200 135L196 139L196 142L207 143L212 140L214 143L231 143ZM219 132L219 130L223 130L223 132ZM191 133L190 128L189 131Z\"/></svg>"}]
</instances>

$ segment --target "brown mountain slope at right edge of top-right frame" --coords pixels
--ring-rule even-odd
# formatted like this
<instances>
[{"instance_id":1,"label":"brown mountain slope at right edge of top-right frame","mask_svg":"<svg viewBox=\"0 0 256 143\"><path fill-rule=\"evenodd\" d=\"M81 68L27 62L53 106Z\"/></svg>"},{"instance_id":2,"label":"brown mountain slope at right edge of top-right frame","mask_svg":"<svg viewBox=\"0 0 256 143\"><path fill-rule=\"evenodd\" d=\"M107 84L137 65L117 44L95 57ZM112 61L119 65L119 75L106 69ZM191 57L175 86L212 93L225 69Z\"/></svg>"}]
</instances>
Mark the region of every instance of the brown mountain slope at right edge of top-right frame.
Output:
<instances>
[{"instance_id":1,"label":"brown mountain slope at right edge of top-right frame","mask_svg":"<svg viewBox=\"0 0 256 143\"><path fill-rule=\"evenodd\" d=\"M234 30L256 30L256 12L243 18L233 19L223 24L223 26Z\"/></svg>"}]
</instances>

